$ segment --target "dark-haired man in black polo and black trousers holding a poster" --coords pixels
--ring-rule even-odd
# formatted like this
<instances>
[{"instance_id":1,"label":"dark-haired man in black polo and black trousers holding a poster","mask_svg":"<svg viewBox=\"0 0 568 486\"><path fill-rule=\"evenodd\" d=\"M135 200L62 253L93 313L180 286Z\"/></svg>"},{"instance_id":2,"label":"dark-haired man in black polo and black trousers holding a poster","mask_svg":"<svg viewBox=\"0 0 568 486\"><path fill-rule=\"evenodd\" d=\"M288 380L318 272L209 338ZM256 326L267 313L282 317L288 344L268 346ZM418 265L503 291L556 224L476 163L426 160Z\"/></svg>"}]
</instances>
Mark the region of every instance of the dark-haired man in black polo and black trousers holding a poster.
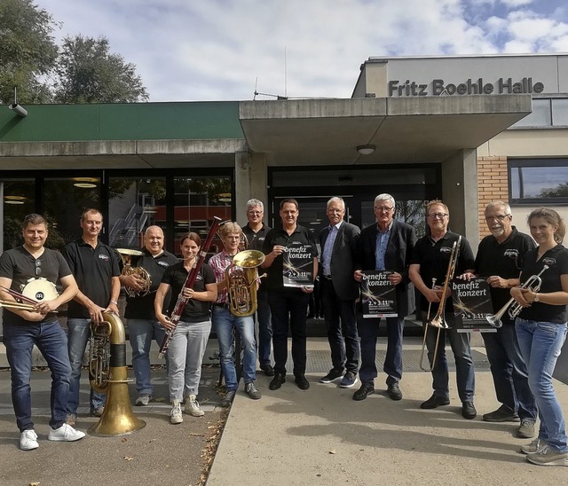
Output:
<instances>
[{"instance_id":1,"label":"dark-haired man in black polo and black trousers holding a poster","mask_svg":"<svg viewBox=\"0 0 568 486\"><path fill-rule=\"evenodd\" d=\"M280 202L282 228L268 231L264 239L263 252L266 260L262 267L268 274L264 281L268 290L268 302L272 311L272 348L274 349L274 378L269 388L276 390L286 381L286 361L288 359L288 316L292 332L292 359L296 385L301 389L310 388L305 378L306 365L306 314L313 287L294 288L284 286L282 254L293 248L303 247L312 258L312 275L318 274L318 248L312 232L297 224L299 215L296 200Z\"/></svg>"}]
</instances>

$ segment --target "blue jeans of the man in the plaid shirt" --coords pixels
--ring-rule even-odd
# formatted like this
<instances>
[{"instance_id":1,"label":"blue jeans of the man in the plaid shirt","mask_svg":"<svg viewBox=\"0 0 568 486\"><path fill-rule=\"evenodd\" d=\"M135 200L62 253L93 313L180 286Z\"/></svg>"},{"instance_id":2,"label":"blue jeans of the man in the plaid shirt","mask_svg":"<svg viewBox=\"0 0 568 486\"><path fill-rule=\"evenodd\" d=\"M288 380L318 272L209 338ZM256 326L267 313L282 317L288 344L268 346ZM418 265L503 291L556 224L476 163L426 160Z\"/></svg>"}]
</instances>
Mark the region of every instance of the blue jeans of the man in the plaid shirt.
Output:
<instances>
[{"instance_id":1,"label":"blue jeans of the man in the plaid shirt","mask_svg":"<svg viewBox=\"0 0 568 486\"><path fill-rule=\"evenodd\" d=\"M256 380L255 321L251 316L236 317L231 311L213 306L213 325L219 341L221 370L225 376L227 391L239 388L237 370L234 366L233 328L241 335L242 376L245 383Z\"/></svg>"}]
</instances>

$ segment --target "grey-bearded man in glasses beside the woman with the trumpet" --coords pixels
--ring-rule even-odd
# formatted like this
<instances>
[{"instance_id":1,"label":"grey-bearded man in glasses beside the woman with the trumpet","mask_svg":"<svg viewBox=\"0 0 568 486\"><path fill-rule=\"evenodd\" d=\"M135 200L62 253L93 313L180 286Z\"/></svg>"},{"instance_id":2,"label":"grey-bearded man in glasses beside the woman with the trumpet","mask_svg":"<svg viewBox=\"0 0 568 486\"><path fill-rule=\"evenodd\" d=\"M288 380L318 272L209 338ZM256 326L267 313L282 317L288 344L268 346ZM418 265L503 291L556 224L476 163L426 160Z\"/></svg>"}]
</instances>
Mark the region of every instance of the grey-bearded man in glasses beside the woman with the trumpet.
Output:
<instances>
[{"instance_id":1,"label":"grey-bearded man in glasses beside the woman with the trumpet","mask_svg":"<svg viewBox=\"0 0 568 486\"><path fill-rule=\"evenodd\" d=\"M491 286L493 311L498 312L509 302L509 289L519 285L519 274L526 252L534 248L533 239L513 226L509 204L502 200L490 202L485 208L485 223L491 231L479 243L476 275ZM474 277L466 274L466 278ZM501 406L483 419L486 422L521 422L517 436L534 436L537 408L529 388L526 364L518 346L515 319L505 312L502 326L496 333L481 333L487 359L491 365L497 401Z\"/></svg>"}]
</instances>

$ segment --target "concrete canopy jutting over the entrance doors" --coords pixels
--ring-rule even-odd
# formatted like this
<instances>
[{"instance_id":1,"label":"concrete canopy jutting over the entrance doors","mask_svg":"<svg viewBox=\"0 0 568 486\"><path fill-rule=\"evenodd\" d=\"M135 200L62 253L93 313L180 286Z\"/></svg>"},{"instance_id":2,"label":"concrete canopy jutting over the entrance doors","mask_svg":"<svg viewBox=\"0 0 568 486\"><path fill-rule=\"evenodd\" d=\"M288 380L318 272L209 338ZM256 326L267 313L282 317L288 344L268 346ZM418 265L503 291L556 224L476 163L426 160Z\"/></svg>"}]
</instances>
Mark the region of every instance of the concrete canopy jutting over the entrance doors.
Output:
<instances>
[{"instance_id":1,"label":"concrete canopy jutting over the entrance doors","mask_svg":"<svg viewBox=\"0 0 568 486\"><path fill-rule=\"evenodd\" d=\"M355 165L444 161L531 111L530 95L492 95L243 101L239 117L269 166Z\"/></svg>"}]
</instances>

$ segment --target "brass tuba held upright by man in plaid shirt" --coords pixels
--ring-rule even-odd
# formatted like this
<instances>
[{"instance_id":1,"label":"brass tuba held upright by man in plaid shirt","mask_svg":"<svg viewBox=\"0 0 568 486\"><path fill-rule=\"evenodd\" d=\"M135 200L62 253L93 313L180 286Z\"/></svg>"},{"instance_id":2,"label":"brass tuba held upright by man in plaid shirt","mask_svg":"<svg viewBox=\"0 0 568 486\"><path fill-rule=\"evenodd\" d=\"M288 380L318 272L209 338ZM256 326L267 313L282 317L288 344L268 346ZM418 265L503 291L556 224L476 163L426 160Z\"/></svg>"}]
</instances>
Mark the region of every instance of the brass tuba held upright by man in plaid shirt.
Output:
<instances>
[{"instance_id":1,"label":"brass tuba held upright by man in plaid shirt","mask_svg":"<svg viewBox=\"0 0 568 486\"><path fill-rule=\"evenodd\" d=\"M237 317L252 316L256 312L256 267L264 263L265 256L258 250L245 250L233 256L233 263L225 270L227 294L231 313Z\"/></svg>"}]
</instances>

